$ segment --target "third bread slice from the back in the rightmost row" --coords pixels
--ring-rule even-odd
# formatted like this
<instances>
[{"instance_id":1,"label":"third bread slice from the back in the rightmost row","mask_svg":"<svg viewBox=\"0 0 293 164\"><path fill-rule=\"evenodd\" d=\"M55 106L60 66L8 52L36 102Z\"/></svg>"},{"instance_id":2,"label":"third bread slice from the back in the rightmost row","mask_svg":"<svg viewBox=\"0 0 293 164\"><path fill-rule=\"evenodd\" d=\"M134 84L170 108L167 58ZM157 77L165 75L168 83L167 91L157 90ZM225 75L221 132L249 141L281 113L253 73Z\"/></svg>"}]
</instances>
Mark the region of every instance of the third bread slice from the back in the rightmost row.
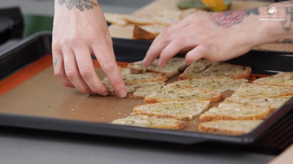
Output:
<instances>
[{"instance_id":1,"label":"third bread slice from the back in the rightmost row","mask_svg":"<svg viewBox=\"0 0 293 164\"><path fill-rule=\"evenodd\" d=\"M252 104L252 105L257 105L260 107L270 107L273 111L275 111L275 110L279 109L291 97L292 97L292 95L291 96L284 96L284 97L274 97L274 98L234 95L231 97L227 97L225 99L225 101Z\"/></svg>"}]
</instances>

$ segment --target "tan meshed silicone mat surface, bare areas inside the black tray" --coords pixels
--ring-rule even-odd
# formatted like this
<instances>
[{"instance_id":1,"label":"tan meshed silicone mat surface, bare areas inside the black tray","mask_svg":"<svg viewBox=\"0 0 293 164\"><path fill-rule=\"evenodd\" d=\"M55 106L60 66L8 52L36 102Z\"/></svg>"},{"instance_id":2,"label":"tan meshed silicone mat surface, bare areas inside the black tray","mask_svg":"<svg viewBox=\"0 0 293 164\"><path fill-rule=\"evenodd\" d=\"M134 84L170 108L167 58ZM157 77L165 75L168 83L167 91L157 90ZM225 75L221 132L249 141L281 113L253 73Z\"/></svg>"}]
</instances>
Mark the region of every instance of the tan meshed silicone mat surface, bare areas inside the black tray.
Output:
<instances>
[{"instance_id":1,"label":"tan meshed silicone mat surface, bare areas inside the black tray","mask_svg":"<svg viewBox=\"0 0 293 164\"><path fill-rule=\"evenodd\" d=\"M95 68L100 79L105 77L102 69ZM171 78L173 82L178 76ZM224 97L233 92L226 91ZM30 116L42 116L76 121L110 123L117 118L129 116L132 107L144 104L143 99L116 96L102 97L79 93L75 88L64 87L53 74L50 66L17 87L0 96L0 112ZM213 107L218 103L212 103ZM186 121L183 130L198 131L199 116Z\"/></svg>"}]
</instances>

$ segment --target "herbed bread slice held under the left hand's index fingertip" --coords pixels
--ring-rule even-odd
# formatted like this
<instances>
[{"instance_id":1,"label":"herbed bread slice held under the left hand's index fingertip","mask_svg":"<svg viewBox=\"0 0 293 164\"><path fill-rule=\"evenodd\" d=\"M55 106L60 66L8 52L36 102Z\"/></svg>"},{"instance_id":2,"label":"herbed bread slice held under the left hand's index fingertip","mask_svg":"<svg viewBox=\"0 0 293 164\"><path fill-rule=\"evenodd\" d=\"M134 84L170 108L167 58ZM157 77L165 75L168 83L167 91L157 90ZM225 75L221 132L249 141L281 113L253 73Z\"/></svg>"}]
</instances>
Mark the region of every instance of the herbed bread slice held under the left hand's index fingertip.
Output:
<instances>
[{"instance_id":1,"label":"herbed bread slice held under the left hand's index fingertip","mask_svg":"<svg viewBox=\"0 0 293 164\"><path fill-rule=\"evenodd\" d=\"M125 84L127 96L131 98L144 98L165 85L163 81L142 81ZM106 85L110 90L110 95L116 95L111 85Z\"/></svg>"}]
</instances>

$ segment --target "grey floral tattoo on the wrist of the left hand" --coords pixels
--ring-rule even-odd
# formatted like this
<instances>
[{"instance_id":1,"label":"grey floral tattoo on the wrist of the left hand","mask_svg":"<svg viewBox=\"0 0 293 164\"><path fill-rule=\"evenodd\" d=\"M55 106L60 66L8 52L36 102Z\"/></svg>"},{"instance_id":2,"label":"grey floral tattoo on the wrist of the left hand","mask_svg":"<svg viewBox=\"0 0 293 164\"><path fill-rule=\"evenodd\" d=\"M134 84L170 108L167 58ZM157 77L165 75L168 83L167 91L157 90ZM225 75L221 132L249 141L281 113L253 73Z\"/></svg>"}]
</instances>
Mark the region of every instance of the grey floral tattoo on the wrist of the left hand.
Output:
<instances>
[{"instance_id":1,"label":"grey floral tattoo on the wrist of the left hand","mask_svg":"<svg viewBox=\"0 0 293 164\"><path fill-rule=\"evenodd\" d=\"M76 6L80 11L84 11L84 8L89 10L94 8L94 6L98 6L93 0L58 0L58 3L61 5L66 4L69 10Z\"/></svg>"}]
</instances>

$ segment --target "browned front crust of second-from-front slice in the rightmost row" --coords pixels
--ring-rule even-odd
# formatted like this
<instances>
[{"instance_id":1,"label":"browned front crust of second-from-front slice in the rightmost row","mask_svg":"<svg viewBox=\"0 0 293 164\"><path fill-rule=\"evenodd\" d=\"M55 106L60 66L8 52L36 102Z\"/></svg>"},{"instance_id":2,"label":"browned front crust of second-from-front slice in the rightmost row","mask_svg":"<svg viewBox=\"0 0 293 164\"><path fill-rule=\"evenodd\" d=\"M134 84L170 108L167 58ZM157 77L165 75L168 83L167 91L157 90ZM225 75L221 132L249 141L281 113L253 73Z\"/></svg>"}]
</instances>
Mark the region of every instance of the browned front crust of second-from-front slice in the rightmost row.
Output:
<instances>
[{"instance_id":1,"label":"browned front crust of second-from-front slice in the rightmost row","mask_svg":"<svg viewBox=\"0 0 293 164\"><path fill-rule=\"evenodd\" d=\"M200 115L201 122L217 121L217 120L264 120L272 114L273 110L267 111L266 113L254 115L254 116L228 116L228 115Z\"/></svg>"}]
</instances>

